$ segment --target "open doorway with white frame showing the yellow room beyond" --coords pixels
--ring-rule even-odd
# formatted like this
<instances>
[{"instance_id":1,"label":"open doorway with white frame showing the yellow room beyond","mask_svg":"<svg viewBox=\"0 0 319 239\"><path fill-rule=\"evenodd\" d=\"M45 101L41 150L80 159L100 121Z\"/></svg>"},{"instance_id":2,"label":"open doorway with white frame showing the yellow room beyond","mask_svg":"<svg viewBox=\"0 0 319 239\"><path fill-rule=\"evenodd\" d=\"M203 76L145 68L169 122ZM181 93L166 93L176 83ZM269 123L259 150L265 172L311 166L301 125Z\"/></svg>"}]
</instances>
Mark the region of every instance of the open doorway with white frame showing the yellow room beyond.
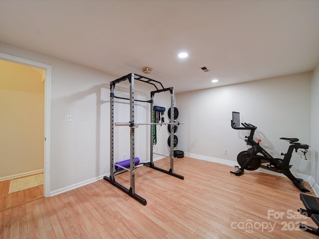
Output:
<instances>
[{"instance_id":1,"label":"open doorway with white frame showing the yellow room beyond","mask_svg":"<svg viewBox=\"0 0 319 239\"><path fill-rule=\"evenodd\" d=\"M0 53L0 64L3 131L0 139L0 197L8 193L3 191L7 191L11 180L44 172L44 185L13 192L7 194L5 199L1 198L2 211L3 207L7 209L49 196L47 165L50 149L51 66L3 53Z\"/></svg>"}]
</instances>

